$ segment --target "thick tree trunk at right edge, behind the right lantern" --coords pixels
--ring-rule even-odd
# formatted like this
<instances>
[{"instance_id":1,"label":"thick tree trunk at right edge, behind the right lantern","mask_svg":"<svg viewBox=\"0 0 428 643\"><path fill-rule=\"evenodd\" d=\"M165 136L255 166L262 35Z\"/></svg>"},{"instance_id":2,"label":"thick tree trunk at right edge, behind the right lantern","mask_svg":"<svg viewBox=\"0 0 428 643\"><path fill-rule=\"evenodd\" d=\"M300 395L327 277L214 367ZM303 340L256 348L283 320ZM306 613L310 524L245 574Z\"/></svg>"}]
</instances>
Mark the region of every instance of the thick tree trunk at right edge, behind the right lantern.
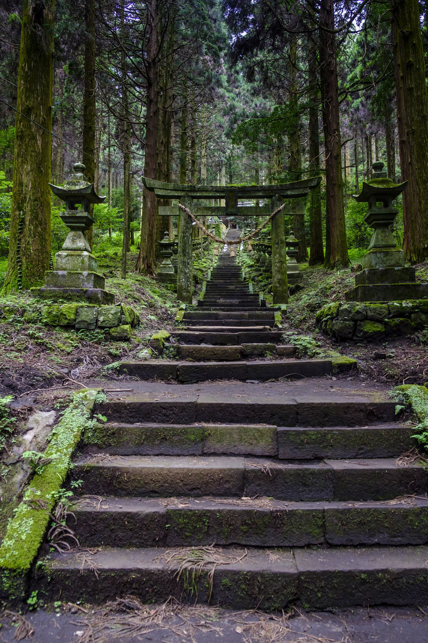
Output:
<instances>
[{"instance_id":1,"label":"thick tree trunk at right edge, behind the right lantern","mask_svg":"<svg viewBox=\"0 0 428 643\"><path fill-rule=\"evenodd\" d=\"M424 260L428 240L428 99L418 0L391 0L403 192L404 250Z\"/></svg>"}]
</instances>

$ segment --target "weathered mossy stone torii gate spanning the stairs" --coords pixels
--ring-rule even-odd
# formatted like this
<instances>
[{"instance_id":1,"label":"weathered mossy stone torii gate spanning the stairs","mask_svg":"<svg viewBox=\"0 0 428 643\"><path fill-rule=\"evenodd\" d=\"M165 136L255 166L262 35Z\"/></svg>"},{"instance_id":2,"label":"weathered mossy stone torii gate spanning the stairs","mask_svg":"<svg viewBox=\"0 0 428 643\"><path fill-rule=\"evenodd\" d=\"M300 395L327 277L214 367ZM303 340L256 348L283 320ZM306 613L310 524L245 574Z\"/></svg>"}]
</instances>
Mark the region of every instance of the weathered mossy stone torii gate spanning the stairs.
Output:
<instances>
[{"instance_id":1,"label":"weathered mossy stone torii gate spanning the stairs","mask_svg":"<svg viewBox=\"0 0 428 643\"><path fill-rule=\"evenodd\" d=\"M276 210L284 199L301 199L307 197L309 190L313 190L321 182L321 177L316 176L305 181L283 183L279 185L181 185L179 183L163 183L154 179L142 177L143 184L154 192L159 199L178 199L179 202L195 216L218 217L244 216L260 217L270 215ZM226 206L202 206L194 210L193 199L224 199ZM271 199L271 207L242 206L238 207L238 199ZM303 210L303 211L302 211ZM305 208L299 203L291 205L286 216L303 215ZM178 206L159 206L159 215L179 215L179 241L178 241L178 266L177 266L177 299L184 303L192 303L193 278L192 278L192 219L179 210ZM284 213L278 212L272 219L272 292L273 303L287 303L287 255L285 245L285 219Z\"/></svg>"}]
</instances>

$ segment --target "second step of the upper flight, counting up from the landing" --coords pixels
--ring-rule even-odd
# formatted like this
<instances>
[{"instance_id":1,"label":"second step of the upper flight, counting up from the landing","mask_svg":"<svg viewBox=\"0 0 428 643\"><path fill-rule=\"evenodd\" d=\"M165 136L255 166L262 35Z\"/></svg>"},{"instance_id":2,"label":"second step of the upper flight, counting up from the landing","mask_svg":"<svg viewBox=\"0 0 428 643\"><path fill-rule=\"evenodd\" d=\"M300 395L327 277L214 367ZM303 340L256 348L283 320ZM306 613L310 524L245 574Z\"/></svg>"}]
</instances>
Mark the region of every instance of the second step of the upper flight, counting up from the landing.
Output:
<instances>
[{"instance_id":1,"label":"second step of the upper flight, counting up from the landing","mask_svg":"<svg viewBox=\"0 0 428 643\"><path fill-rule=\"evenodd\" d=\"M174 345L179 359L192 359L193 361L236 361L253 357L269 355L292 356L294 346L278 346L269 342L242 343L240 345L205 346L201 344Z\"/></svg>"}]
</instances>

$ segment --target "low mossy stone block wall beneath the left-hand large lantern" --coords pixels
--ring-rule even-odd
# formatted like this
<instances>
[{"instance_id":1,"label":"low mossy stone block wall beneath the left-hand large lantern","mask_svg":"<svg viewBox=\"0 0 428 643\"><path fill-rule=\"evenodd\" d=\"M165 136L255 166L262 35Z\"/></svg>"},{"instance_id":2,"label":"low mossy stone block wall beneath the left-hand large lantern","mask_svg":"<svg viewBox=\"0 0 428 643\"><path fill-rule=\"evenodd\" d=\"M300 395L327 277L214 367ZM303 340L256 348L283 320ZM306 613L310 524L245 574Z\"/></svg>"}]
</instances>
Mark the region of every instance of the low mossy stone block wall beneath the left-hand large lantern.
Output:
<instances>
[{"instance_id":1,"label":"low mossy stone block wall beneath the left-hand large lantern","mask_svg":"<svg viewBox=\"0 0 428 643\"><path fill-rule=\"evenodd\" d=\"M73 327L76 331L85 329L108 331L111 340L127 341L131 329L139 325L139 314L123 303L97 306L78 302L51 303L42 307L42 323L49 326Z\"/></svg>"}]
</instances>

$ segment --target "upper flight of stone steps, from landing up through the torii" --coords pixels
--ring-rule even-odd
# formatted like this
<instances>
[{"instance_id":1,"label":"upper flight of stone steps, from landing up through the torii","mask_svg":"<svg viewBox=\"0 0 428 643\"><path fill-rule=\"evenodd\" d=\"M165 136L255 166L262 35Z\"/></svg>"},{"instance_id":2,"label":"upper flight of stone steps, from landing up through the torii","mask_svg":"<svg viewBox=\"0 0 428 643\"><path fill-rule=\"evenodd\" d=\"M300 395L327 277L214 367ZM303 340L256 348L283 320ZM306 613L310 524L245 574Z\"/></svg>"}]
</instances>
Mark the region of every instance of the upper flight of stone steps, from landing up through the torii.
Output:
<instances>
[{"instance_id":1,"label":"upper flight of stone steps, from landing up through the torii","mask_svg":"<svg viewBox=\"0 0 428 643\"><path fill-rule=\"evenodd\" d=\"M331 359L290 359L295 349L283 343L283 331L276 325L275 312L257 293L250 292L235 259L222 254L204 298L196 307L186 309L184 328L171 334L179 361L123 362L120 374L181 383L213 379L266 381L332 374ZM267 356L269 361L260 359Z\"/></svg>"}]
</instances>

